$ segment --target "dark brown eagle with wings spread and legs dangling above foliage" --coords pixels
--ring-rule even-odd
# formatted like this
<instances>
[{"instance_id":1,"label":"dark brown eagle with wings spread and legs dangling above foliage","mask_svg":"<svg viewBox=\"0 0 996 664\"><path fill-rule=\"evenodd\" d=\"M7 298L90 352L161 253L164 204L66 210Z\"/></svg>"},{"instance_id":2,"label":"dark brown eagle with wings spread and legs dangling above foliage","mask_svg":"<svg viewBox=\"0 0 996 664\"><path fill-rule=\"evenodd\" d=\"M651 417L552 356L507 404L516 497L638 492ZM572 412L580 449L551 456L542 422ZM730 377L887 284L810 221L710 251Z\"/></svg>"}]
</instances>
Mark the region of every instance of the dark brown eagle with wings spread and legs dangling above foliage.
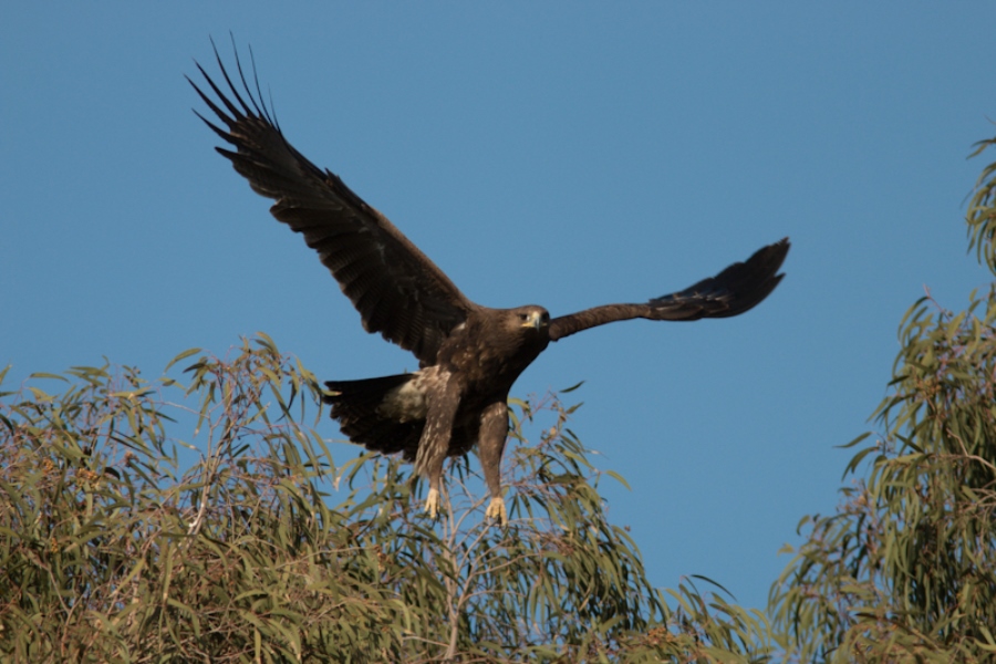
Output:
<instances>
[{"instance_id":1,"label":"dark brown eagle with wings spread and legs dangling above foliage","mask_svg":"<svg viewBox=\"0 0 996 664\"><path fill-rule=\"evenodd\" d=\"M387 218L339 176L299 153L250 87L236 52L238 83L215 49L224 84L195 62L214 97L187 81L215 114L194 112L229 147L216 147L250 187L276 203L270 212L304 236L370 332L411 351L418 370L357 381L328 381L323 400L350 440L401 453L428 479L425 511L439 510L443 465L477 445L490 501L486 518L507 523L500 463L508 436L508 393L553 341L630 319L729 318L756 307L781 281L788 238L715 277L639 304L603 304L551 318L537 304L491 309L468 299ZM220 80L219 80L220 82ZM227 92L226 90L227 89Z\"/></svg>"}]
</instances>

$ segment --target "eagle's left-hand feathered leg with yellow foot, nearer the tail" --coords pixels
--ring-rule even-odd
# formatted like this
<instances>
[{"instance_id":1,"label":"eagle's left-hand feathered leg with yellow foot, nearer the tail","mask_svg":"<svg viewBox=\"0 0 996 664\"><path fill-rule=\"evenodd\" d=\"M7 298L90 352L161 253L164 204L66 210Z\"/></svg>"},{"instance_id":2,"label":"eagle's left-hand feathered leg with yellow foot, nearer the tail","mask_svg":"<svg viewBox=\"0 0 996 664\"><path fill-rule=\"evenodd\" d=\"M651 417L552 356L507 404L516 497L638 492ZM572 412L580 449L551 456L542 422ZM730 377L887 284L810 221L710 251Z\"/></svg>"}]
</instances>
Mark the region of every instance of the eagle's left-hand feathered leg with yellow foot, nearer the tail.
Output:
<instances>
[{"instance_id":1,"label":"eagle's left-hand feathered leg with yellow foot, nearer the tail","mask_svg":"<svg viewBox=\"0 0 996 664\"><path fill-rule=\"evenodd\" d=\"M442 380L432 385L426 394L428 408L425 416L425 428L422 429L418 452L415 456L415 471L429 480L425 511L433 519L439 512L443 463L449 453L453 423L460 403L460 392L456 381L449 380L448 375L440 377Z\"/></svg>"}]
</instances>

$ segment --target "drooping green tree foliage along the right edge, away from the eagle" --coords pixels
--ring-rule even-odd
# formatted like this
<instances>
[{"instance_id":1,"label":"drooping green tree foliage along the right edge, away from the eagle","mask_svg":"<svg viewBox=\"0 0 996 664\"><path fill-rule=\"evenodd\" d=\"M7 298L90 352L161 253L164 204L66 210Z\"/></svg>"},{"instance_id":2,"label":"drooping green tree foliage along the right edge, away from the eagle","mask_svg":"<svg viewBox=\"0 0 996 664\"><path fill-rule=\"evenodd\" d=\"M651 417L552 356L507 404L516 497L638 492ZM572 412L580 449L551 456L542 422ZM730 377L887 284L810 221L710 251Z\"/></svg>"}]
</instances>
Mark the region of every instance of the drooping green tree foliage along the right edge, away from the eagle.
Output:
<instances>
[{"instance_id":1,"label":"drooping green tree foliage along the right edge, away from the eagle","mask_svg":"<svg viewBox=\"0 0 996 664\"><path fill-rule=\"evenodd\" d=\"M996 164L968 209L972 245L996 272L994 193ZM874 414L883 433L845 471L871 460L869 475L842 489L836 515L802 520L807 541L772 588L789 660L996 657L994 323L996 284L965 312L927 297L904 318L891 393Z\"/></svg>"}]
</instances>

